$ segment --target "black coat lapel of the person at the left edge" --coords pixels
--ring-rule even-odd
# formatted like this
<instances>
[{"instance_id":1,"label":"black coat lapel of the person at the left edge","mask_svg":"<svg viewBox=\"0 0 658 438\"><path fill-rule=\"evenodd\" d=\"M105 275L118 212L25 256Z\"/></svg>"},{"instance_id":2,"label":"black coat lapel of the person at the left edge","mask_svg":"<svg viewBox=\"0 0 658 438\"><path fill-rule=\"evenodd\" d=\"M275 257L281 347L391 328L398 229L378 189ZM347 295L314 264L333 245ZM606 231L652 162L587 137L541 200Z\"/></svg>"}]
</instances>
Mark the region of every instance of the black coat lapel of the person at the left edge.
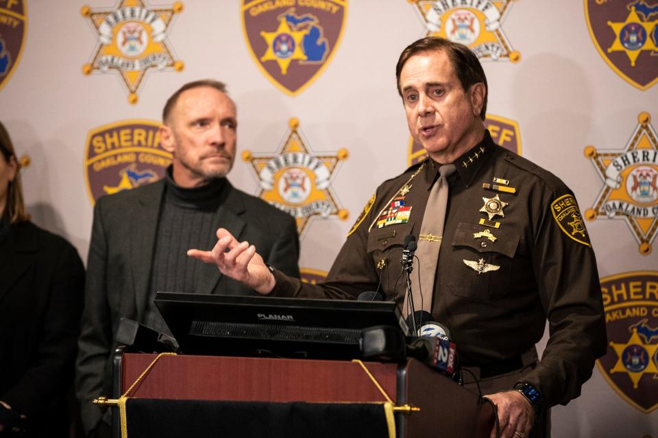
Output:
<instances>
[{"instance_id":1,"label":"black coat lapel of the person at the left edge","mask_svg":"<svg viewBox=\"0 0 658 438\"><path fill-rule=\"evenodd\" d=\"M18 224L12 227L0 253L0 266L3 266L0 302L14 283L25 274L38 249L36 233L25 233L25 227L32 227L32 224Z\"/></svg>"}]
</instances>

